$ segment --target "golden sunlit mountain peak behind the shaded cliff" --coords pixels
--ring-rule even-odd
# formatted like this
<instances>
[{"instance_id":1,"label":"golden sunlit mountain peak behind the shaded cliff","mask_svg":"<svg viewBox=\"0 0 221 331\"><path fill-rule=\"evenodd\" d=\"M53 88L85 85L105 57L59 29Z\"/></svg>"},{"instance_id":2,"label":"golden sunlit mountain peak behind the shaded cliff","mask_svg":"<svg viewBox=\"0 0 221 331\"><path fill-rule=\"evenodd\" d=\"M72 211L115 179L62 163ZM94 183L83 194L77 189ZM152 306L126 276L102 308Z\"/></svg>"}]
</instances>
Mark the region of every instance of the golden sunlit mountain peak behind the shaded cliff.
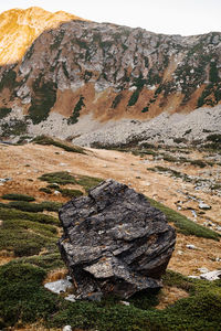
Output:
<instances>
[{"instance_id":1,"label":"golden sunlit mountain peak behind the shaded cliff","mask_svg":"<svg viewBox=\"0 0 221 331\"><path fill-rule=\"evenodd\" d=\"M40 7L11 9L0 14L0 65L19 62L45 30L63 22L83 20L64 11L52 13Z\"/></svg>"}]
</instances>

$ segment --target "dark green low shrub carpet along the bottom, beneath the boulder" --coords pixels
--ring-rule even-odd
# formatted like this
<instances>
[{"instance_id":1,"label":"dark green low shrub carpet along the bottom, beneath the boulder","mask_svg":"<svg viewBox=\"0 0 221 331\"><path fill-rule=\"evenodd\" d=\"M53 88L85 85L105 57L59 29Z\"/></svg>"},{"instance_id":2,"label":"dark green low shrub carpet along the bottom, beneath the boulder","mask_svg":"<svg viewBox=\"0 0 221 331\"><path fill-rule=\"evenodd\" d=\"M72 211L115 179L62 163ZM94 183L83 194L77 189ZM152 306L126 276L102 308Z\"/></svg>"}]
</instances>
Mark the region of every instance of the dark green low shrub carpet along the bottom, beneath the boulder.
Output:
<instances>
[{"instance_id":1,"label":"dark green low shrub carpet along the bottom, beneath the boulder","mask_svg":"<svg viewBox=\"0 0 221 331\"><path fill-rule=\"evenodd\" d=\"M185 288L190 297L156 310L158 293L149 296L148 291L130 298L129 307L117 298L72 303L43 288L45 276L44 268L21 260L0 268L0 314L4 327L41 320L49 329L71 324L73 329L98 331L220 330L220 280L192 280L169 271L164 284Z\"/></svg>"}]
</instances>

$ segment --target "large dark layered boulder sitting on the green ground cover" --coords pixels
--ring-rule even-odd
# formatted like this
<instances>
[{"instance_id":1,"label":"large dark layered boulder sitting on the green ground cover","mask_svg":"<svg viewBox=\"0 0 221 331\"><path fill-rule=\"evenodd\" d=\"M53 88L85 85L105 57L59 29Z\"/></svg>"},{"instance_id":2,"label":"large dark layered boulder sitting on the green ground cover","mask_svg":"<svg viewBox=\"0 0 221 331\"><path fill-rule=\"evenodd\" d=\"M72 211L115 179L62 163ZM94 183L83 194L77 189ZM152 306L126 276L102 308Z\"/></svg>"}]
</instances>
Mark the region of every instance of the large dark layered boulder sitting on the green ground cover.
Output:
<instances>
[{"instance_id":1,"label":"large dark layered boulder sitting on the green ground cover","mask_svg":"<svg viewBox=\"0 0 221 331\"><path fill-rule=\"evenodd\" d=\"M176 233L145 195L106 180L60 210L62 258L76 298L128 298L161 287Z\"/></svg>"}]
</instances>

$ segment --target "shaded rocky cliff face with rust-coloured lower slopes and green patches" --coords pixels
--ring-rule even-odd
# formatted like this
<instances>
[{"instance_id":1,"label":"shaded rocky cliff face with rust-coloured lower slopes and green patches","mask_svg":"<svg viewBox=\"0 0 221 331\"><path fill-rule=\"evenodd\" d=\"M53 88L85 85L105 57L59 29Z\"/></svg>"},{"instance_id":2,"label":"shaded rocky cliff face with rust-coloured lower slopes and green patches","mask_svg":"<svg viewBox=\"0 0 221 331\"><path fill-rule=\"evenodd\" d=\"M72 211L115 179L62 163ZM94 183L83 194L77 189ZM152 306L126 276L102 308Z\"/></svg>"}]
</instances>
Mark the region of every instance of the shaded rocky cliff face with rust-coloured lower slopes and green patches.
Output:
<instances>
[{"instance_id":1,"label":"shaded rocky cliff face with rust-coloured lower slopes and green patches","mask_svg":"<svg viewBox=\"0 0 221 331\"><path fill-rule=\"evenodd\" d=\"M182 38L70 21L45 30L22 60L2 65L0 79L4 136L6 119L14 116L28 116L33 128L60 114L70 135L84 115L98 122L145 120L212 107L221 102L221 33Z\"/></svg>"}]
</instances>

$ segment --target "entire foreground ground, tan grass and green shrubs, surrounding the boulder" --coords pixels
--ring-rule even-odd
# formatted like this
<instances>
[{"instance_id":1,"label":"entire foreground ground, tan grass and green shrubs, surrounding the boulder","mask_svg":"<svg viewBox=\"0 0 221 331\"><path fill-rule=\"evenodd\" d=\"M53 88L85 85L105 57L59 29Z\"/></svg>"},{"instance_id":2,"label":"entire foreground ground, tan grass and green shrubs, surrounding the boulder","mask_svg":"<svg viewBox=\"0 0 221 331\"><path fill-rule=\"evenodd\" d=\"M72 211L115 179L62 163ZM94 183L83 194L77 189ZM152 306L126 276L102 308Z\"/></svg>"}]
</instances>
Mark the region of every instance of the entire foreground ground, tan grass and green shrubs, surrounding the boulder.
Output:
<instances>
[{"instance_id":1,"label":"entire foreground ground, tan grass and green shrubs, surrounding the boulder","mask_svg":"<svg viewBox=\"0 0 221 331\"><path fill-rule=\"evenodd\" d=\"M45 141L45 138L43 140ZM213 327L217 328L220 322L217 313L220 311L219 284L183 278L180 274L199 276L220 268L221 242L207 238L208 234L211 235L211 232L208 233L210 228L213 229L213 238L218 239L217 235L221 234L220 154L187 148L127 149L127 151L85 148L77 149L76 153L76 150L75 152L64 150L64 142L63 145L62 141L59 142L60 147L55 147L53 140L50 146L0 143L0 227L2 229L0 233L2 247L0 248L0 311L3 316L3 320L0 318L0 328L7 322L11 327L6 330L11 331L80 331L94 330L94 325L98 325L96 329L102 331L108 328L108 330L113 328L129 330L133 319L133 328L143 331L147 330L145 323L159 325L158 322L162 321L165 325L166 316L172 319L172 325L178 325L179 320L179 327L181 322L183 330L192 323L196 324L193 330L199 330L208 319L211 319L208 328L218 330ZM66 146L71 145L65 143L65 148ZM74 175L76 180L72 184L54 186L56 180L48 179L46 183L39 179L52 172L62 174L65 172ZM130 303L83 301L67 305L66 300L60 299L57 295L43 291L43 284L64 278L67 273L56 246L62 233L57 223L59 204L56 203L65 203L71 199L63 194L70 193L69 190L81 191L72 191L74 193L86 193L88 186L95 185L101 179L109 178L126 183L180 213L171 215L170 224L178 229L177 243L168 271L164 276L164 289L157 297L149 299L145 295L135 299L134 303L133 301ZM51 191L45 191L49 189L49 183L52 183ZM2 195L8 193L35 197L35 203L12 201L18 203L19 207L23 206L25 210L31 205L40 206L48 201L50 202L48 206L53 207L53 212L25 214L20 210L7 209L6 204L11 202L2 199ZM168 211L171 214L171 210L166 210ZM192 235L180 233L180 227L176 225L176 217L179 215L188 216L193 221L193 225L203 225L203 231L207 231L206 237L204 235L198 237L194 226L191 227ZM186 220L181 222L186 223ZM188 231L187 227L186 229ZM31 295L27 291L27 286L30 287ZM196 295L192 290L197 291ZM17 312L18 295L22 300L20 312ZM35 301L33 296L38 298ZM168 308L172 303L175 303L173 312ZM156 309L148 310L149 305ZM179 305L182 305L181 308ZM182 316L183 307L189 307L188 316ZM41 320L36 318L38 316ZM140 322L140 319L144 320ZM63 329L67 324L72 328ZM140 329L137 327L139 324ZM169 324L167 325L169 330ZM135 330L133 328L131 330ZM165 330L164 328L160 330Z\"/></svg>"}]
</instances>

